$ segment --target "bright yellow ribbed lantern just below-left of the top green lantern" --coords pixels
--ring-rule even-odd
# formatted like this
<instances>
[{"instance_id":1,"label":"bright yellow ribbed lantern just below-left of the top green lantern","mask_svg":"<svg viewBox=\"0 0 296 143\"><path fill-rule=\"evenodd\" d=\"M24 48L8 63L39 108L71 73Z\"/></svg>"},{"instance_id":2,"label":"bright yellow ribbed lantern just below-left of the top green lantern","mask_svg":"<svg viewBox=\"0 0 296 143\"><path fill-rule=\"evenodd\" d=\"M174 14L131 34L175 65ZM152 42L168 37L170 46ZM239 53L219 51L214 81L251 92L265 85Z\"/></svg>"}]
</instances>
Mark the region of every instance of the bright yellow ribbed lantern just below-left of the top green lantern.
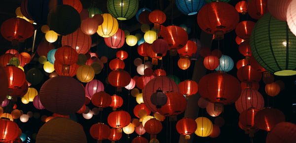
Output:
<instances>
[{"instance_id":1,"label":"bright yellow ribbed lantern just below-left of the top green lantern","mask_svg":"<svg viewBox=\"0 0 296 143\"><path fill-rule=\"evenodd\" d=\"M118 22L109 13L104 13L102 16L103 16L104 22L102 25L99 25L97 33L104 38L111 37L118 30Z\"/></svg>"}]
</instances>

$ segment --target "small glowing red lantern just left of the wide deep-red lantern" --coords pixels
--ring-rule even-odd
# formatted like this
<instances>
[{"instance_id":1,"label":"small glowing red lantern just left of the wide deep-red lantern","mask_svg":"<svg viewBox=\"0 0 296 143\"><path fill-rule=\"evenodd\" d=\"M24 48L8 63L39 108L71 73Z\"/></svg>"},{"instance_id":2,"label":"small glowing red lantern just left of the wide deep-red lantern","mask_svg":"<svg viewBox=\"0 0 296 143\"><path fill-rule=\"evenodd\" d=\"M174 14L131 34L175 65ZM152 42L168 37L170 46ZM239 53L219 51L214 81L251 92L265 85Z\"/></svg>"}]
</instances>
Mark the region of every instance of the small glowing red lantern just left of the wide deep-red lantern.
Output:
<instances>
[{"instance_id":1,"label":"small glowing red lantern just left of the wide deep-red lantern","mask_svg":"<svg viewBox=\"0 0 296 143\"><path fill-rule=\"evenodd\" d=\"M178 85L180 93L186 96L194 95L198 91L198 85L195 81L185 80Z\"/></svg>"}]
</instances>

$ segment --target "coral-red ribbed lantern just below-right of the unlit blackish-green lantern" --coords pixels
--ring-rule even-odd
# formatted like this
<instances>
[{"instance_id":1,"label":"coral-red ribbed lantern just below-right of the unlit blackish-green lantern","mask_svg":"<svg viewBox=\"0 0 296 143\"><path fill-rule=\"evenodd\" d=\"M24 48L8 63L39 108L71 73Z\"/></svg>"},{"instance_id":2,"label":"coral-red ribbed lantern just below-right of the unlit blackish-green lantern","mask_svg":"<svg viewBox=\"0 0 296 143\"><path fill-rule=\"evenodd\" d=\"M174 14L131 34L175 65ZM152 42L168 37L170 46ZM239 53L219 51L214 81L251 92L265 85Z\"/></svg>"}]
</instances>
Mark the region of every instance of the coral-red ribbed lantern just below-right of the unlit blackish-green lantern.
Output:
<instances>
[{"instance_id":1,"label":"coral-red ribbed lantern just below-right of the unlit blackish-green lantern","mask_svg":"<svg viewBox=\"0 0 296 143\"><path fill-rule=\"evenodd\" d=\"M78 54L85 54L91 47L91 37L78 28L75 32L62 37L62 46L72 47Z\"/></svg>"}]
</instances>

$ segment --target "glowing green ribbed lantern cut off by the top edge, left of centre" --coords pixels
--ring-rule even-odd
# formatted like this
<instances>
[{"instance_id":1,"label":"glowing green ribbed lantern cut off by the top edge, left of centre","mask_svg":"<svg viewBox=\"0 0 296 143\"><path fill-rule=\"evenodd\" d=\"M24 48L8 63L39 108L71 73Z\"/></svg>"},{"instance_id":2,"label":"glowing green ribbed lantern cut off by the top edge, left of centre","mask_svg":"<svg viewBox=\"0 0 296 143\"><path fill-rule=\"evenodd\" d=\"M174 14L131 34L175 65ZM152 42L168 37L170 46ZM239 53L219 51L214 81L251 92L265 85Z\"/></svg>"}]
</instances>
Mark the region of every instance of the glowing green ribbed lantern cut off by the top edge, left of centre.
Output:
<instances>
[{"instance_id":1,"label":"glowing green ribbed lantern cut off by the top edge, left of centre","mask_svg":"<svg viewBox=\"0 0 296 143\"><path fill-rule=\"evenodd\" d=\"M118 20L131 19L136 15L139 7L138 0L108 0L109 13Z\"/></svg>"}]
</instances>

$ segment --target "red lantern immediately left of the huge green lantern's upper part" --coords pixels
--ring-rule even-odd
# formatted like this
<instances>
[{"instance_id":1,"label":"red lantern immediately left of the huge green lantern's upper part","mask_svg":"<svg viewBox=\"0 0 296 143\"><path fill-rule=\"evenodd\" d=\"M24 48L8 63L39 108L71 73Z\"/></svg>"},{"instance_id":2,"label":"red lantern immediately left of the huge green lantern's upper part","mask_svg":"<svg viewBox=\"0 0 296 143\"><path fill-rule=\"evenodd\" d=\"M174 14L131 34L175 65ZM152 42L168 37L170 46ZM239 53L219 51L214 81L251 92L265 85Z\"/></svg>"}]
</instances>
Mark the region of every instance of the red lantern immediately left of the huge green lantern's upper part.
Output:
<instances>
[{"instance_id":1,"label":"red lantern immediately left of the huge green lantern's upper part","mask_svg":"<svg viewBox=\"0 0 296 143\"><path fill-rule=\"evenodd\" d=\"M235 28L236 35L241 39L249 39L255 24L253 21L242 21L238 23Z\"/></svg>"}]
</instances>

